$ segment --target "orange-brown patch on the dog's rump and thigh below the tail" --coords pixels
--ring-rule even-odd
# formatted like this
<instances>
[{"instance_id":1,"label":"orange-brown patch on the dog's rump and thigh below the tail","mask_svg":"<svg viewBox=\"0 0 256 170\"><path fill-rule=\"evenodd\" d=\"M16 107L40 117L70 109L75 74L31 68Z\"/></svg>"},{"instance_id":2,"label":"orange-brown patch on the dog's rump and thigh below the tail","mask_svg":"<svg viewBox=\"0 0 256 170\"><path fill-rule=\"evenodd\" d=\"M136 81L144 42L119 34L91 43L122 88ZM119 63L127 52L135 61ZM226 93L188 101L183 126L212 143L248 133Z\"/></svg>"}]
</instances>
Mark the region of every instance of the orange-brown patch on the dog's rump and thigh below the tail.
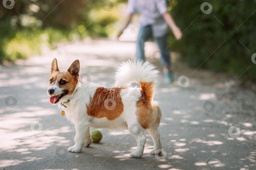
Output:
<instances>
[{"instance_id":1,"label":"orange-brown patch on the dog's rump and thigh below the tail","mask_svg":"<svg viewBox=\"0 0 256 170\"><path fill-rule=\"evenodd\" d=\"M148 129L160 123L161 110L155 101L152 101L155 91L154 83L139 83L141 85L141 97L137 101L136 115L141 127Z\"/></svg>"}]
</instances>

